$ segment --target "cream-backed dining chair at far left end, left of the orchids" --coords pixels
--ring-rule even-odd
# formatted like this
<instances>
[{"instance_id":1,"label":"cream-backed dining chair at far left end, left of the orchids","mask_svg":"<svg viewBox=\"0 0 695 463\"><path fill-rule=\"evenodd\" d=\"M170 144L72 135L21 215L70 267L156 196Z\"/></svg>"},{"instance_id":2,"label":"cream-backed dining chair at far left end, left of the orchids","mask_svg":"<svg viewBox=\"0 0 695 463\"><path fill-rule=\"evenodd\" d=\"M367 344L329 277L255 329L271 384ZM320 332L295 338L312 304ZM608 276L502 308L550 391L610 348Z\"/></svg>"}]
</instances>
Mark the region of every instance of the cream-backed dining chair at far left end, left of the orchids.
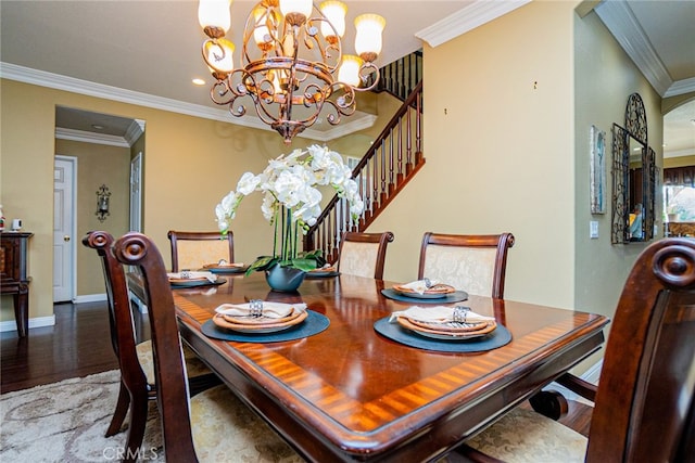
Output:
<instances>
[{"instance_id":1,"label":"cream-backed dining chair at far left end, left of the orchids","mask_svg":"<svg viewBox=\"0 0 695 463\"><path fill-rule=\"evenodd\" d=\"M198 270L207 263L225 259L235 261L235 237L231 230L224 236L218 231L169 230L172 244L172 271Z\"/></svg>"}]
</instances>

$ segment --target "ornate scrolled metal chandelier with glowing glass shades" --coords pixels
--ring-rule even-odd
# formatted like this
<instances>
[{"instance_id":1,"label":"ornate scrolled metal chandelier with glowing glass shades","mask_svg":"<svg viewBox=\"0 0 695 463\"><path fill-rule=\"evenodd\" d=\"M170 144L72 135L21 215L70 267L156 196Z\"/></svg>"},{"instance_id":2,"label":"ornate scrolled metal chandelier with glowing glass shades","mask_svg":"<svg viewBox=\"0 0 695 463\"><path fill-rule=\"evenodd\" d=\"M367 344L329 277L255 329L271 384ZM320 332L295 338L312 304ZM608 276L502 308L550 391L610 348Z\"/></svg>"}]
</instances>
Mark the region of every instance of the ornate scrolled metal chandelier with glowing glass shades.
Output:
<instances>
[{"instance_id":1,"label":"ornate scrolled metal chandelier with glowing glass shades","mask_svg":"<svg viewBox=\"0 0 695 463\"><path fill-rule=\"evenodd\" d=\"M374 61L381 52L383 17L355 18L357 55L343 54L346 7L340 1L262 0L247 18L241 63L235 68L235 44L225 38L230 27L231 0L200 0L198 18L208 37L203 59L216 79L210 95L241 117L248 97L263 123L277 130L286 144L311 127L326 106L329 124L356 110L355 91L379 81ZM375 78L369 81L369 75ZM368 83L370 82L370 83Z\"/></svg>"}]
</instances>

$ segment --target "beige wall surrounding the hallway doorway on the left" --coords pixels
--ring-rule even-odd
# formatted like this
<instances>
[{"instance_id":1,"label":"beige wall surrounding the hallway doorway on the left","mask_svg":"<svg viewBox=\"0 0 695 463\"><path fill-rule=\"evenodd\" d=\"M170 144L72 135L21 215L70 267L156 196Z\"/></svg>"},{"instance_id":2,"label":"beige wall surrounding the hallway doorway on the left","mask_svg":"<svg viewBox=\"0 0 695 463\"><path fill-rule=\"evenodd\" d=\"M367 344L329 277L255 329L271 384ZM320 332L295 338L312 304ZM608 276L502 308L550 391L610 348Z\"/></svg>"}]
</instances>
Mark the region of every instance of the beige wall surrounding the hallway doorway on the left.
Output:
<instances>
[{"instance_id":1,"label":"beige wall surrounding the hallway doorway on the left","mask_svg":"<svg viewBox=\"0 0 695 463\"><path fill-rule=\"evenodd\" d=\"M35 234L29 249L29 319L53 313L55 105L146 120L143 231L156 241L167 265L169 229L215 230L214 207L239 177L262 170L268 158L288 152L275 132L13 80L0 80L0 204L5 217L22 217L24 229ZM306 141L295 142L302 143ZM260 205L252 196L239 209L233 231L241 260L267 253L270 228L261 218ZM14 319L11 298L2 298L1 309L1 320Z\"/></svg>"}]
</instances>

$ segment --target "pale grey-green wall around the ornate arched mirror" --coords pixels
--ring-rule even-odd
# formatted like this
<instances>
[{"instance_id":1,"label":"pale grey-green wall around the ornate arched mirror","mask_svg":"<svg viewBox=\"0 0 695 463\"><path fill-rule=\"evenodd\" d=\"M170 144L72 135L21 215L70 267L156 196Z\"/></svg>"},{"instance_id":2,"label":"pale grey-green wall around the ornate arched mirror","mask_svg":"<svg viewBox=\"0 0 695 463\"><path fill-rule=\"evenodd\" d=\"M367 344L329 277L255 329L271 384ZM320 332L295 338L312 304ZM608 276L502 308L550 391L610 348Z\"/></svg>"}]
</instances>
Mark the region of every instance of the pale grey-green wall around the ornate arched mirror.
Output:
<instances>
[{"instance_id":1,"label":"pale grey-green wall around the ornate arched mirror","mask_svg":"<svg viewBox=\"0 0 695 463\"><path fill-rule=\"evenodd\" d=\"M661 99L616 42L595 13L574 20L576 43L576 281L574 308L612 316L620 291L645 243L610 244L611 126L624 127L628 97L637 92L645 105L648 142L662 162ZM590 127L606 132L607 211L591 215L589 203ZM656 197L657 226L661 230L661 192ZM589 237L589 222L598 222L598 239Z\"/></svg>"}]
</instances>

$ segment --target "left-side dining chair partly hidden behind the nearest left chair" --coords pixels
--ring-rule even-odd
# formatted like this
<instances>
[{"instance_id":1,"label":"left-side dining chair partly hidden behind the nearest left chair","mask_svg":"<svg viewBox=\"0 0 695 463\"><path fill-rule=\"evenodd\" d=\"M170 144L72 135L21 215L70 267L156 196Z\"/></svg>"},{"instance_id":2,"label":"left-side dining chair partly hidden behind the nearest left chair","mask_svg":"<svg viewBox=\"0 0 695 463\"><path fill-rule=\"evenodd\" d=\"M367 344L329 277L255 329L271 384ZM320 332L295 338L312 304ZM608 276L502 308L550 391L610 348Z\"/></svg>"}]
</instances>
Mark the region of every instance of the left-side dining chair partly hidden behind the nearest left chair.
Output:
<instances>
[{"instance_id":1,"label":"left-side dining chair partly hidden behind the nearest left chair","mask_svg":"<svg viewBox=\"0 0 695 463\"><path fill-rule=\"evenodd\" d=\"M83 244L97 250L104 272L109 307L111 344L118 360L121 387L116 409L105 436L117 434L130 411L130 424L126 440L126 461L136 455L144 436L148 401L156 398L152 344L138 343L128 297L128 284L123 266L111 253L113 236L104 231L92 231L83 239ZM191 394L203 390L220 381L189 348L184 349Z\"/></svg>"}]
</instances>

